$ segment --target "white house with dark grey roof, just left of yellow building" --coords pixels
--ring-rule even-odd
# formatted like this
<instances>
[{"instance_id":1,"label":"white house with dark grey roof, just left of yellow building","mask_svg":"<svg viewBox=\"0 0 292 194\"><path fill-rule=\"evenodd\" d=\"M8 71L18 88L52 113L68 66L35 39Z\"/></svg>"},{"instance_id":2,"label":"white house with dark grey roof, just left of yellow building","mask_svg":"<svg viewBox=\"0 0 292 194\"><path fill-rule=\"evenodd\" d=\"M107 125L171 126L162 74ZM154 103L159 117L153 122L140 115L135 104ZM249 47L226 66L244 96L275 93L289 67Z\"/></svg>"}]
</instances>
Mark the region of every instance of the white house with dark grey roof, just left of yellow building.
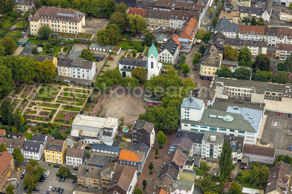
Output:
<instances>
[{"instance_id":1,"label":"white house with dark grey roof, just left of yellow building","mask_svg":"<svg viewBox=\"0 0 292 194\"><path fill-rule=\"evenodd\" d=\"M23 146L23 157L25 159L40 160L44 155L43 142L34 140L25 140Z\"/></svg>"}]
</instances>

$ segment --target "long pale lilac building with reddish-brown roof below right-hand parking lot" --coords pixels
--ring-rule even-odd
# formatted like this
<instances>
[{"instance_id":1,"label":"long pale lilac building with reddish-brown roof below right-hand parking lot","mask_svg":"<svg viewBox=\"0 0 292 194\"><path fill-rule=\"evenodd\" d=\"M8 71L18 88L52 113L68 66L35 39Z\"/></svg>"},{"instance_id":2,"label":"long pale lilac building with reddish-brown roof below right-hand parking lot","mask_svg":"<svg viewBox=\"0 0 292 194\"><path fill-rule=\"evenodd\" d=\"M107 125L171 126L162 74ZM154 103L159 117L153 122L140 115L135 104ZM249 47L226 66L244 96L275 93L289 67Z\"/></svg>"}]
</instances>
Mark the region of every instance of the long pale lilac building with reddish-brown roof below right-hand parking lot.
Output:
<instances>
[{"instance_id":1,"label":"long pale lilac building with reddish-brown roof below right-hand parking lot","mask_svg":"<svg viewBox=\"0 0 292 194\"><path fill-rule=\"evenodd\" d=\"M250 162L260 162L271 164L275 160L275 148L262 147L256 145L244 145L243 155L247 156Z\"/></svg>"}]
</instances>

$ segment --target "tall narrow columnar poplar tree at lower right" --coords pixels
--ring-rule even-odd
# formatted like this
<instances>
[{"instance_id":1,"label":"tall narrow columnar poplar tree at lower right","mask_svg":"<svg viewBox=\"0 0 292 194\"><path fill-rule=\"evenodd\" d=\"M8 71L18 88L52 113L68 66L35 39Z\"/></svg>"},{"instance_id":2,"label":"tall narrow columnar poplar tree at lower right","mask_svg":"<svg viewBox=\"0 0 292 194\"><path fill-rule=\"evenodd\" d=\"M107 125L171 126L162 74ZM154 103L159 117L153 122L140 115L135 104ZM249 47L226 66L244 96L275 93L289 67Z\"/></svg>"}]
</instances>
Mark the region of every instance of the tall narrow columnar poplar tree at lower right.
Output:
<instances>
[{"instance_id":1,"label":"tall narrow columnar poplar tree at lower right","mask_svg":"<svg viewBox=\"0 0 292 194\"><path fill-rule=\"evenodd\" d=\"M222 147L221 157L219 161L220 167L220 177L224 180L227 179L234 165L231 160L232 148L230 147L228 142L225 142Z\"/></svg>"}]
</instances>

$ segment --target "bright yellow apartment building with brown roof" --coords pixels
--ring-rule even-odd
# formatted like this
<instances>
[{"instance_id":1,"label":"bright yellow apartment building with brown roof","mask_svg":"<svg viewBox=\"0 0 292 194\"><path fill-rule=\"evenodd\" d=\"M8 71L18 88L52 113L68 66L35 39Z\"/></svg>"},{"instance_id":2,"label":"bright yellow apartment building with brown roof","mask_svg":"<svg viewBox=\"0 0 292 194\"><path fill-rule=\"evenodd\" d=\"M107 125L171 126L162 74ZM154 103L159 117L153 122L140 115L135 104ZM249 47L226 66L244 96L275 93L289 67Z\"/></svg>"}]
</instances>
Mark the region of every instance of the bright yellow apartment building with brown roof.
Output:
<instances>
[{"instance_id":1,"label":"bright yellow apartment building with brown roof","mask_svg":"<svg viewBox=\"0 0 292 194\"><path fill-rule=\"evenodd\" d=\"M48 139L44 148L45 162L63 165L66 160L67 141Z\"/></svg>"}]
</instances>

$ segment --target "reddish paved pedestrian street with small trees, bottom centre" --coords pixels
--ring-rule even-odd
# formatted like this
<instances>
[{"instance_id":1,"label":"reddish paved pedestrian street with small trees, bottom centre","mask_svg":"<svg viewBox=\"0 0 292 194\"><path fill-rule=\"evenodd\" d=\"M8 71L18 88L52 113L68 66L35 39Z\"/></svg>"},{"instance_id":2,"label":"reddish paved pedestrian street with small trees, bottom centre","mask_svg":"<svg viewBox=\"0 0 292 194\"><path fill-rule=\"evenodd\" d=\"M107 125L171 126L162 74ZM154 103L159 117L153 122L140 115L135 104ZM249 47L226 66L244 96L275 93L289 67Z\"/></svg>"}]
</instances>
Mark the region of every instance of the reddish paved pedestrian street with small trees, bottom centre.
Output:
<instances>
[{"instance_id":1,"label":"reddish paved pedestrian street with small trees, bottom centre","mask_svg":"<svg viewBox=\"0 0 292 194\"><path fill-rule=\"evenodd\" d=\"M155 131L155 133L157 133L157 131ZM153 185L154 180L157 180L157 178L158 178L159 170L161 169L161 167L163 165L164 156L167 156L167 154L168 154L168 150L169 150L169 147L171 145L171 141L175 137L175 132L172 132L171 135L168 135L167 132L164 132L164 135L167 136L167 142L166 142L166 144L163 145L163 149L159 149L159 152L161 153L160 157L158 156L157 160L154 158L155 157L155 148L159 147L159 144L156 142L156 143L154 143L154 146L152 147L150 156L145 164L145 167L142 171L142 174L138 176L138 183L137 183L135 188L142 189L143 188L142 180L143 179L147 180L146 190L142 190L143 193L152 193L153 187L154 187L154 185ZM153 174L149 174L148 165L150 162L152 162L154 165L154 170L152 170Z\"/></svg>"}]
</instances>

